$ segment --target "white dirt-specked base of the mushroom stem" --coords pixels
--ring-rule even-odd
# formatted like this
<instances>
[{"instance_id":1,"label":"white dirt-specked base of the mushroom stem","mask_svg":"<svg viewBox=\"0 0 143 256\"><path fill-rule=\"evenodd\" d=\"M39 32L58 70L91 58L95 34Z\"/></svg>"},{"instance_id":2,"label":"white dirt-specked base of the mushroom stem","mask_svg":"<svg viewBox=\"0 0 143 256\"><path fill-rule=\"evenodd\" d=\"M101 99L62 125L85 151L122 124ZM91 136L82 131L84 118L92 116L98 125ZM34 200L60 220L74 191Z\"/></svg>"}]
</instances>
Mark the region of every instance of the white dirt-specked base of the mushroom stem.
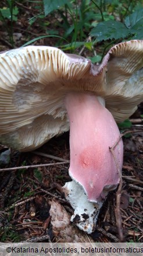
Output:
<instances>
[{"instance_id":1,"label":"white dirt-specked base of the mushroom stem","mask_svg":"<svg viewBox=\"0 0 143 256\"><path fill-rule=\"evenodd\" d=\"M101 209L104 199L100 202L89 202L83 187L76 181L66 182L63 186L66 199L70 202L74 209L74 215L71 222L76 226L91 234L95 230L95 224L98 219L99 210Z\"/></svg>"}]
</instances>

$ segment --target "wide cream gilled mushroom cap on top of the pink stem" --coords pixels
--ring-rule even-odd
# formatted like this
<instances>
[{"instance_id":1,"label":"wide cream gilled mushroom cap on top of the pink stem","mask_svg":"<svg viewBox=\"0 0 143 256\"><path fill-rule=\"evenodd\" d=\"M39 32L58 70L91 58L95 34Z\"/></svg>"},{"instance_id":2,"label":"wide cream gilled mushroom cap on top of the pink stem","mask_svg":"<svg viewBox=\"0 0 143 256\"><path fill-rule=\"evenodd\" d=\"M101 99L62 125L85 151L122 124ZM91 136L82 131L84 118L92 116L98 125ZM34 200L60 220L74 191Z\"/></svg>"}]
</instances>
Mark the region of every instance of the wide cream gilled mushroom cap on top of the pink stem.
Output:
<instances>
[{"instance_id":1,"label":"wide cream gilled mushroom cap on top of the pink stem","mask_svg":"<svg viewBox=\"0 0 143 256\"><path fill-rule=\"evenodd\" d=\"M105 99L117 122L143 98L143 41L117 44L101 65L47 46L27 46L0 55L0 141L20 151L40 147L69 130L68 92Z\"/></svg>"}]
</instances>

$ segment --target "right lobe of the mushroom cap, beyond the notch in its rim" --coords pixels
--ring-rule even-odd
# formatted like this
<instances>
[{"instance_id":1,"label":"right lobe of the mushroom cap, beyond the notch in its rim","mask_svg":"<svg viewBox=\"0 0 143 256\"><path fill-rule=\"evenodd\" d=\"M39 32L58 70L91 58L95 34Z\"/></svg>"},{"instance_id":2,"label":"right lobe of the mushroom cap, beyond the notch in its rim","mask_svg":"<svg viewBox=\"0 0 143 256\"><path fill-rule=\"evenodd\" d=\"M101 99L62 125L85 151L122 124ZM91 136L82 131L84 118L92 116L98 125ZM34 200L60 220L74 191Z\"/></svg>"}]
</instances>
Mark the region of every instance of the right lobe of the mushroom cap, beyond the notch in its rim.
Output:
<instances>
[{"instance_id":1,"label":"right lobe of the mushroom cap, beyond the notch in its rim","mask_svg":"<svg viewBox=\"0 0 143 256\"><path fill-rule=\"evenodd\" d=\"M112 47L102 61L107 67L106 108L116 122L131 116L143 101L143 41L131 40Z\"/></svg>"}]
</instances>

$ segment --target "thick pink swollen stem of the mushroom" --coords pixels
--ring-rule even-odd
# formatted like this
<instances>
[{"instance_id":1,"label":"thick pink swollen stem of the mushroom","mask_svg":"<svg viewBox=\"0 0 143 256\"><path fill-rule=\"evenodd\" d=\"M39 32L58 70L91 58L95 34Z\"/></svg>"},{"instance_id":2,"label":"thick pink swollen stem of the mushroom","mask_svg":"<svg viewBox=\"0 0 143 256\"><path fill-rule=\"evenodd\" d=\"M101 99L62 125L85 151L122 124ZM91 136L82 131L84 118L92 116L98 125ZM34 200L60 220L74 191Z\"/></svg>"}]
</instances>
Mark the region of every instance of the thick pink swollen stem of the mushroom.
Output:
<instances>
[{"instance_id":1,"label":"thick pink swollen stem of the mushroom","mask_svg":"<svg viewBox=\"0 0 143 256\"><path fill-rule=\"evenodd\" d=\"M109 150L109 147L112 147L119 138L120 132L112 114L104 104L105 101L102 98L80 92L68 94L65 99L70 120L69 174L78 186L83 187L81 189L84 189L87 200L98 203L100 207L108 191L115 189L120 180L115 160ZM123 164L122 140L117 144L114 153L121 171ZM72 202L72 190L69 189L68 184L65 186L66 188L67 199L73 206L75 205L77 212L75 194L74 202ZM68 194L70 194L70 199ZM84 205L83 208L86 209L86 206ZM81 209L78 212L83 215ZM97 212L99 212L98 209ZM86 216L86 223L87 219ZM83 229L83 226L80 228Z\"/></svg>"}]
</instances>

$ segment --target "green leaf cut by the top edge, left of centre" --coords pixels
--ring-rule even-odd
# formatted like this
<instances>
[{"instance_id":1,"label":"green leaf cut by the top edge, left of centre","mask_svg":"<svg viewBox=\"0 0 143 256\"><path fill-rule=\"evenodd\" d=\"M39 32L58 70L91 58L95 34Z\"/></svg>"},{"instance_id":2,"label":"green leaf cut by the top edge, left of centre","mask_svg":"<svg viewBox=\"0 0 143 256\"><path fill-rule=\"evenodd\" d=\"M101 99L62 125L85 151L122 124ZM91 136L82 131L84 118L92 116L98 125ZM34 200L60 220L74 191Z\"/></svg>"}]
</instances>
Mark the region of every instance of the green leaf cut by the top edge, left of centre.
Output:
<instances>
[{"instance_id":1,"label":"green leaf cut by the top edge, left of centre","mask_svg":"<svg viewBox=\"0 0 143 256\"><path fill-rule=\"evenodd\" d=\"M44 11L45 16L47 16L50 12L59 9L63 5L69 5L68 0L44 0Z\"/></svg>"}]
</instances>

